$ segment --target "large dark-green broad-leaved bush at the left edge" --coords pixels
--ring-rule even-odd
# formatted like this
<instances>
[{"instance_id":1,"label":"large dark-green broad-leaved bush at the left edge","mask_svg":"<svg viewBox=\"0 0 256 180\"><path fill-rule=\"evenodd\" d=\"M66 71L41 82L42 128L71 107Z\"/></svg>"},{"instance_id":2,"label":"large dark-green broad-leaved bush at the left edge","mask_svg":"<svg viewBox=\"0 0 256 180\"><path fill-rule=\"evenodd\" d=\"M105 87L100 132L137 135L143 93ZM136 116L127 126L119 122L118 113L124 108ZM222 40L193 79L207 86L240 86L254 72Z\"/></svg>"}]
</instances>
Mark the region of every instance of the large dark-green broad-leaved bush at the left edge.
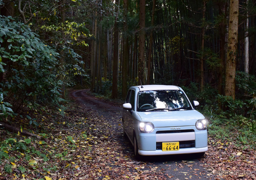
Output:
<instances>
[{"instance_id":1,"label":"large dark-green broad-leaved bush at the left edge","mask_svg":"<svg viewBox=\"0 0 256 180\"><path fill-rule=\"evenodd\" d=\"M23 105L59 106L63 82L58 78L58 53L28 25L0 16L0 57L1 116L14 114Z\"/></svg>"}]
</instances>

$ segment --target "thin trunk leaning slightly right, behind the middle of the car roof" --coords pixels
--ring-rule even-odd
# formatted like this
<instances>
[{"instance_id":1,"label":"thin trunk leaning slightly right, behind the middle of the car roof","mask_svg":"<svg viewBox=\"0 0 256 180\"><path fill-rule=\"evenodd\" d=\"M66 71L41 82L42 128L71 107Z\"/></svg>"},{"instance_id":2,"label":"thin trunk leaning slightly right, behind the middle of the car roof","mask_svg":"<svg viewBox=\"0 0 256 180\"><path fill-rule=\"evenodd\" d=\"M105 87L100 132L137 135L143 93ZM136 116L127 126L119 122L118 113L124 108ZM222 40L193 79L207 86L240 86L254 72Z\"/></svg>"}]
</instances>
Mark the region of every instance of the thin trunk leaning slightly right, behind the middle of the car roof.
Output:
<instances>
[{"instance_id":1,"label":"thin trunk leaning slightly right, behind the middle of the car roof","mask_svg":"<svg viewBox=\"0 0 256 180\"><path fill-rule=\"evenodd\" d=\"M147 68L147 83L146 84L150 84L152 45L153 45L153 26L154 26L155 7L156 7L156 0L153 0L152 17L151 17L151 29L150 29L150 39L149 39L149 48L148 48L148 68Z\"/></svg>"}]
</instances>

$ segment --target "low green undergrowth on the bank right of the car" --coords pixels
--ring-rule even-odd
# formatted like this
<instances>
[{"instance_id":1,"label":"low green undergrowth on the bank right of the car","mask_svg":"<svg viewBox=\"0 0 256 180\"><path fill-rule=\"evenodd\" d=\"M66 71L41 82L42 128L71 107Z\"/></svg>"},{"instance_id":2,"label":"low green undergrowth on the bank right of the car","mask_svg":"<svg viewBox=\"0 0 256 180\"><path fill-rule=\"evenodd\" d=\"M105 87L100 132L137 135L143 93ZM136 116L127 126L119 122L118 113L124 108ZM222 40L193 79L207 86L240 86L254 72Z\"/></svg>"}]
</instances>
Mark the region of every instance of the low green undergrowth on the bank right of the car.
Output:
<instances>
[{"instance_id":1,"label":"low green undergrowth on the bank right of the car","mask_svg":"<svg viewBox=\"0 0 256 180\"><path fill-rule=\"evenodd\" d=\"M237 146L245 145L256 148L255 121L255 90L256 78L237 72L236 99L219 95L218 92L206 85L199 92L197 83L182 87L190 100L198 100L201 111L209 120L208 133L216 139L236 142Z\"/></svg>"}]
</instances>

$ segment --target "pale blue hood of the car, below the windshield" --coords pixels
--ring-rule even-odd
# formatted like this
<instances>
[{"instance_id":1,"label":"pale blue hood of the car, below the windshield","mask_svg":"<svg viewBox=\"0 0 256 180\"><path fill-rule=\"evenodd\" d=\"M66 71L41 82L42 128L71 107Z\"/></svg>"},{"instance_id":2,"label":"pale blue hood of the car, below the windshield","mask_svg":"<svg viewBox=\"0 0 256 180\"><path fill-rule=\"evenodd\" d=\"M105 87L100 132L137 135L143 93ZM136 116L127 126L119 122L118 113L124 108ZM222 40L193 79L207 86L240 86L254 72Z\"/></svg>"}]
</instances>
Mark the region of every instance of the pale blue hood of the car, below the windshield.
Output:
<instances>
[{"instance_id":1,"label":"pale blue hood of the car, below the windshield","mask_svg":"<svg viewBox=\"0 0 256 180\"><path fill-rule=\"evenodd\" d=\"M196 110L138 112L138 115L142 121L152 122L155 127L190 126L204 119L204 115Z\"/></svg>"}]
</instances>

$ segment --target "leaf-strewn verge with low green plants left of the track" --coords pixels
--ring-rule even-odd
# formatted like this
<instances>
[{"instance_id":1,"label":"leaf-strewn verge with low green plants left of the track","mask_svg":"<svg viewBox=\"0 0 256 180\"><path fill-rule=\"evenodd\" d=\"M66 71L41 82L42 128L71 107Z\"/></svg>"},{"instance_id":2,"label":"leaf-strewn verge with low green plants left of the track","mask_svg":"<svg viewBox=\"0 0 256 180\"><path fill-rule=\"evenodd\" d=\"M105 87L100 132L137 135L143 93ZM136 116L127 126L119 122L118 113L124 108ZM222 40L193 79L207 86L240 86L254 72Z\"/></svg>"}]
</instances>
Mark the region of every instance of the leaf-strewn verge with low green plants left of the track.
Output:
<instances>
[{"instance_id":1,"label":"leaf-strewn verge with low green plants left of the track","mask_svg":"<svg viewBox=\"0 0 256 180\"><path fill-rule=\"evenodd\" d=\"M40 139L0 128L0 176L6 179L45 180L60 172L65 174L76 170L78 154L86 155L93 142L88 134L91 129L86 124L92 113L78 109L70 103L65 113L52 110L26 112L41 119L38 126L18 118L10 119L9 123L22 124L23 131L40 135ZM80 144L82 141L87 143Z\"/></svg>"}]
</instances>

